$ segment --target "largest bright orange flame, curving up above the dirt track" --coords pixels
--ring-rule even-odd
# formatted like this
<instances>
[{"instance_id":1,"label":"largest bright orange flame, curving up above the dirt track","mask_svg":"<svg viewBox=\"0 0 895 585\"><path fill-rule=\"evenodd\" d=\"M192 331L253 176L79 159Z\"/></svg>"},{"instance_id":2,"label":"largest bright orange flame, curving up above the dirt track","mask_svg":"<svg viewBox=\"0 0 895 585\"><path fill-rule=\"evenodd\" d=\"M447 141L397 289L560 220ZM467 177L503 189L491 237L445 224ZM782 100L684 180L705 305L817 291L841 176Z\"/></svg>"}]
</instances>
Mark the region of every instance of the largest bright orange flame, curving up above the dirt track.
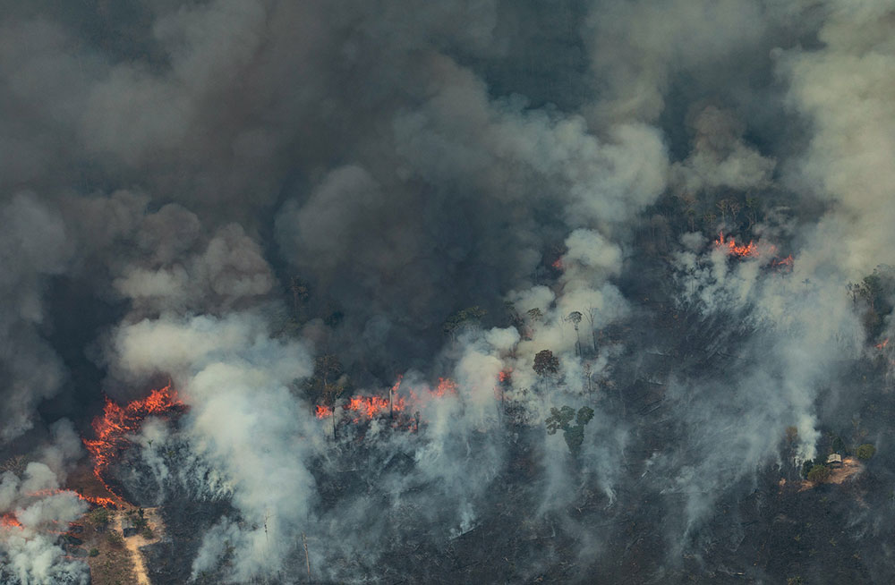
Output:
<instances>
[{"instance_id":1,"label":"largest bright orange flame, curving up above the dirt track","mask_svg":"<svg viewBox=\"0 0 895 585\"><path fill-rule=\"evenodd\" d=\"M93 474L99 479L109 493L115 494L103 479L108 466L121 449L128 444L128 436L140 430L141 424L150 415L166 414L167 412L182 410L183 402L177 397L177 393L171 386L153 390L149 396L142 400L135 400L121 407L106 399L106 407L103 416L93 420L93 431L97 438L93 440L83 439L88 452L93 456ZM86 501L94 501L99 505L115 504L110 498L89 498L81 496ZM102 503L102 502L105 502Z\"/></svg>"}]
</instances>

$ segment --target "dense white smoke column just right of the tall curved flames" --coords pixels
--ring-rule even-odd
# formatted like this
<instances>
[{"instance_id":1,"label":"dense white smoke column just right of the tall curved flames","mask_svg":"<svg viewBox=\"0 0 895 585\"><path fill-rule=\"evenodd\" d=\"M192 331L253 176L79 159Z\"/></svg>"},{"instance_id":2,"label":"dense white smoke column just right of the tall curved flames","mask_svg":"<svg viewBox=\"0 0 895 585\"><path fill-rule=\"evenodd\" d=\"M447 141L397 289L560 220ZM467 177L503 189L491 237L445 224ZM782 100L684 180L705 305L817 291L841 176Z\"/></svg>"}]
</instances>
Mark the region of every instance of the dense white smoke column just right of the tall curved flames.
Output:
<instances>
[{"instance_id":1,"label":"dense white smoke column just right of the tall curved flames","mask_svg":"<svg viewBox=\"0 0 895 585\"><path fill-rule=\"evenodd\" d=\"M234 534L225 521L209 532L193 572L219 560L212 551L222 550L215 541L225 532L235 547L234 580L277 572L291 550L288 535L308 520L315 489L304 460L322 438L310 409L290 394L294 381L311 373L303 345L270 338L258 312L143 320L120 327L113 339L123 375L172 377L191 409L183 435L200 461L223 476L223 484L211 476L204 496L229 493L240 513L244 528ZM144 431L149 437L164 440L151 428ZM161 481L172 472L151 463ZM194 470L200 482L209 481L207 470Z\"/></svg>"}]
</instances>

